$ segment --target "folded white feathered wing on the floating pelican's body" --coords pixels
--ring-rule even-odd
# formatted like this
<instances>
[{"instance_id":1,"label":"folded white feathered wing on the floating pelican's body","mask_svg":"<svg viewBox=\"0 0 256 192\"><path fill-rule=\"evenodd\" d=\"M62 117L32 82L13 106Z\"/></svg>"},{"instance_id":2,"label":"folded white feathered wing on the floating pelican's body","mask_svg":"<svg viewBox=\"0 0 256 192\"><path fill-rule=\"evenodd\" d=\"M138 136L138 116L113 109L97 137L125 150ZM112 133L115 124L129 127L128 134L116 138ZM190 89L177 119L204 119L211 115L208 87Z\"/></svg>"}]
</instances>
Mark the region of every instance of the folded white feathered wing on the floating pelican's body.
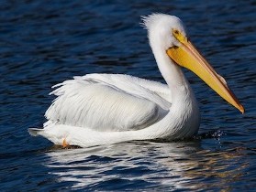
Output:
<instances>
[{"instance_id":1,"label":"folded white feathered wing on the floating pelican's body","mask_svg":"<svg viewBox=\"0 0 256 192\"><path fill-rule=\"evenodd\" d=\"M97 131L138 130L159 121L171 106L167 85L128 75L90 74L54 87L58 96L45 116L48 123Z\"/></svg>"}]
</instances>

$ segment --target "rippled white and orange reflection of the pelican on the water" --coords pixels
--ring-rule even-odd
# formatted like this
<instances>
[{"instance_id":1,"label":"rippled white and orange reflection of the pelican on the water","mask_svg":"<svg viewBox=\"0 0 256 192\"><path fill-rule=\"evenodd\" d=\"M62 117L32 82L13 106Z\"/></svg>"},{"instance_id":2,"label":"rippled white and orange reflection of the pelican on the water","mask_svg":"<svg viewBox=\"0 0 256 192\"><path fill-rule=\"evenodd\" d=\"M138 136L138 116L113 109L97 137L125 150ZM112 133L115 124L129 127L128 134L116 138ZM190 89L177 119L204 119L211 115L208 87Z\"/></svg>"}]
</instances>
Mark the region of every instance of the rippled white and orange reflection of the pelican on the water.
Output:
<instances>
[{"instance_id":1,"label":"rippled white and orange reflection of the pelican on the water","mask_svg":"<svg viewBox=\"0 0 256 192\"><path fill-rule=\"evenodd\" d=\"M230 189L248 166L240 164L239 151L211 152L200 141L113 144L47 155L50 161L45 165L51 175L60 182L72 182L73 188L86 189L113 190L139 182L162 189ZM209 178L215 182L206 182Z\"/></svg>"}]
</instances>

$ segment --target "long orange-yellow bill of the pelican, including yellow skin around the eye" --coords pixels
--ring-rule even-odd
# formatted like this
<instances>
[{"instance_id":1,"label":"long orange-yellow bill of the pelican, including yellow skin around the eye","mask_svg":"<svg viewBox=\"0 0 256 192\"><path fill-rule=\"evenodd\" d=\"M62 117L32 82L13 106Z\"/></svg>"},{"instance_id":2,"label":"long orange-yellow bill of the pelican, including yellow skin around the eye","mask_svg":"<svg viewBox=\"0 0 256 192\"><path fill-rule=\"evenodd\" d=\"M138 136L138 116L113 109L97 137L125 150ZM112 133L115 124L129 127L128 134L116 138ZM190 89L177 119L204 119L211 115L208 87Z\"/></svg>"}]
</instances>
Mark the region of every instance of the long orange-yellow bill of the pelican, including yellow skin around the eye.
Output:
<instances>
[{"instance_id":1,"label":"long orange-yellow bill of the pelican, including yellow skin around the eye","mask_svg":"<svg viewBox=\"0 0 256 192\"><path fill-rule=\"evenodd\" d=\"M243 106L239 103L235 94L229 90L226 80L217 74L203 56L196 50L193 44L184 37L178 30L173 29L173 36L181 43L180 47L173 47L167 50L168 56L178 65L192 70L199 78L212 88L224 100L244 113Z\"/></svg>"}]
</instances>

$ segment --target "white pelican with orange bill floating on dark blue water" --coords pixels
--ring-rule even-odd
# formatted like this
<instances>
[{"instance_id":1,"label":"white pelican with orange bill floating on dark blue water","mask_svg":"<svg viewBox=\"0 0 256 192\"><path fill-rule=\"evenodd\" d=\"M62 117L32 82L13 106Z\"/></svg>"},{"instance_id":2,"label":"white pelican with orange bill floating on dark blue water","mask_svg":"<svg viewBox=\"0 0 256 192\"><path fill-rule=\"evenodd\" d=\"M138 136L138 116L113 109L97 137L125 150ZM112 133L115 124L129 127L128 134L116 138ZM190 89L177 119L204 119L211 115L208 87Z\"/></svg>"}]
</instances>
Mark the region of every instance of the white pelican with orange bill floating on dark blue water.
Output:
<instances>
[{"instance_id":1,"label":"white pelican with orange bill floating on dark blue water","mask_svg":"<svg viewBox=\"0 0 256 192\"><path fill-rule=\"evenodd\" d=\"M176 16L142 16L150 47L167 84L122 74L88 74L53 87L57 98L45 113L43 129L32 135L54 144L114 144L131 140L179 139L199 129L200 113L181 67L195 72L231 105L244 112L226 81L188 40Z\"/></svg>"}]
</instances>

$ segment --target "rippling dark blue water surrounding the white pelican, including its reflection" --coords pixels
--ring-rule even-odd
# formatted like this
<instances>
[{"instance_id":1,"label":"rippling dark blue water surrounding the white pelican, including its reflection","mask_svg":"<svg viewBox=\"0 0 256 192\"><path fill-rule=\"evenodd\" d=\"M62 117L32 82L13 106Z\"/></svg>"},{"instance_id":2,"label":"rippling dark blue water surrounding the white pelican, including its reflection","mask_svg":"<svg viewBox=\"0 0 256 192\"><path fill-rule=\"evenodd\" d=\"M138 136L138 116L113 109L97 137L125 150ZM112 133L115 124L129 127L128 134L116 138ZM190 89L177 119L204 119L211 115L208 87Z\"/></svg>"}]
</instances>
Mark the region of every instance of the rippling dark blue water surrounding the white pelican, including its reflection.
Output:
<instances>
[{"instance_id":1,"label":"rippling dark blue water surrounding the white pelican, including its reflection","mask_svg":"<svg viewBox=\"0 0 256 192\"><path fill-rule=\"evenodd\" d=\"M1 191L253 191L256 187L255 1L0 2ZM31 137L50 87L92 72L160 80L139 16L180 16L245 114L184 70L200 103L199 135L61 149Z\"/></svg>"}]
</instances>

